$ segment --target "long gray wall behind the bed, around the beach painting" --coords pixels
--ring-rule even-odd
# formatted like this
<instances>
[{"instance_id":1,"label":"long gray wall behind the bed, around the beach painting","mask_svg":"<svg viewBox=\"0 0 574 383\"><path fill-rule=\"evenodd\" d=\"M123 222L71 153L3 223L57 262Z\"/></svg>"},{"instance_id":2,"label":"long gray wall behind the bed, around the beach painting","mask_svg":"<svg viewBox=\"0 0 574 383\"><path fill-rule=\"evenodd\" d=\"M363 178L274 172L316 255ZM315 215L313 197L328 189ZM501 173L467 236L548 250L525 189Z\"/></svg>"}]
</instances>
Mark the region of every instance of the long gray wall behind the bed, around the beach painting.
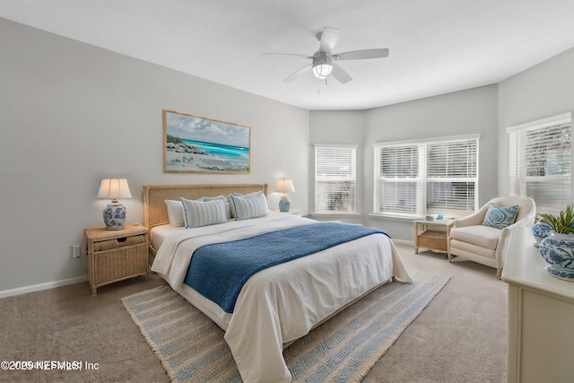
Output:
<instances>
[{"instance_id":1,"label":"long gray wall behind the bed, around the beach painting","mask_svg":"<svg viewBox=\"0 0 574 383\"><path fill-rule=\"evenodd\" d=\"M148 184L273 192L285 176L307 210L308 110L4 19L0 47L0 296L85 279L83 228L102 225L108 203L96 199L101 178L128 179L127 222L143 222ZM251 173L164 173L162 109L250 126Z\"/></svg>"}]
</instances>

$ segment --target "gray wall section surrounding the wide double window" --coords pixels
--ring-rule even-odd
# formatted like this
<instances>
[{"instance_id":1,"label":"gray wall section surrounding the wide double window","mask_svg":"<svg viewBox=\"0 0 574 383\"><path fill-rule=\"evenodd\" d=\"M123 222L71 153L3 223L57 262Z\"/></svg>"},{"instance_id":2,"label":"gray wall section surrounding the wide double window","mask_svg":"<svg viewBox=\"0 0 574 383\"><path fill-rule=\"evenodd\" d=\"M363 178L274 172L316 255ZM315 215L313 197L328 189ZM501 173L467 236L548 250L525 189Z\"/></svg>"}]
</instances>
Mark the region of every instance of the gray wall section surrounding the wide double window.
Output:
<instances>
[{"instance_id":1,"label":"gray wall section surrounding the wide double window","mask_svg":"<svg viewBox=\"0 0 574 383\"><path fill-rule=\"evenodd\" d=\"M412 220L372 218L372 144L450 135L480 134L479 205L497 194L497 86L489 85L366 111L363 224L394 239L413 240Z\"/></svg>"}]
</instances>

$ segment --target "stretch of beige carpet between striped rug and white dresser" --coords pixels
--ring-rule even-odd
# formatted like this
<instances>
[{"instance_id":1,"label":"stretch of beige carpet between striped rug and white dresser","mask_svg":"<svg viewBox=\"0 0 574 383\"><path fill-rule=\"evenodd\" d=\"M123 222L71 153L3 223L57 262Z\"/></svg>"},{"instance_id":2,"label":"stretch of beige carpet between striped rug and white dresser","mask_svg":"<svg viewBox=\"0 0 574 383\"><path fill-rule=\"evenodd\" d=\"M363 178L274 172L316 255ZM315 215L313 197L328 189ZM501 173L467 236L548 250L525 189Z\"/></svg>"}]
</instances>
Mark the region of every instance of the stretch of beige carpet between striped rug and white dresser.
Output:
<instances>
[{"instance_id":1,"label":"stretch of beige carpet between striped rug and white dresser","mask_svg":"<svg viewBox=\"0 0 574 383\"><path fill-rule=\"evenodd\" d=\"M406 265L451 279L363 383L506 382L508 285L496 269L397 248Z\"/></svg>"}]
</instances>

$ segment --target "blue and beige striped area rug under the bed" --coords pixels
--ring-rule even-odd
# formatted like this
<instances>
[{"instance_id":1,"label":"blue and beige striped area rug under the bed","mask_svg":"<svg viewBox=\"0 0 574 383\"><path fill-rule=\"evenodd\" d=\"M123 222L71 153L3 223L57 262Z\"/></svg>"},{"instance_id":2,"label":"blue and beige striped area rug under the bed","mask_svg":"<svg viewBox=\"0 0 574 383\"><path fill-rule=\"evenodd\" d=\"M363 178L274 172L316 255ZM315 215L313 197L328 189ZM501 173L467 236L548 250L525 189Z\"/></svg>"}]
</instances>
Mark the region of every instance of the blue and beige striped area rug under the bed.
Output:
<instances>
[{"instance_id":1,"label":"blue and beige striped area rug under the bed","mask_svg":"<svg viewBox=\"0 0 574 383\"><path fill-rule=\"evenodd\" d=\"M293 381L360 382L450 277L409 268L284 350ZM169 285L122 302L172 382L240 382L223 330Z\"/></svg>"}]
</instances>

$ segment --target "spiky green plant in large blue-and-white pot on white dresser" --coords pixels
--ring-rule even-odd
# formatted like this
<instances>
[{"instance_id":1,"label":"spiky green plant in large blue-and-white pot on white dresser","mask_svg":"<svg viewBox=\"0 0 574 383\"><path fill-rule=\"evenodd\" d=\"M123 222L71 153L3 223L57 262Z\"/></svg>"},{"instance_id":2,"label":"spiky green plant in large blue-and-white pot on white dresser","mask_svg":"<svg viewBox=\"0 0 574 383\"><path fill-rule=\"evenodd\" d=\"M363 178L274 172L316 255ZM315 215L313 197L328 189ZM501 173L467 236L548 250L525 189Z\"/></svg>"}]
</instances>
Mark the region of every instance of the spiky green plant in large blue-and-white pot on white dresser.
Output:
<instances>
[{"instance_id":1,"label":"spiky green plant in large blue-and-white pot on white dresser","mask_svg":"<svg viewBox=\"0 0 574 383\"><path fill-rule=\"evenodd\" d=\"M574 207L566 206L558 215L540 214L552 227L550 237L542 239L540 255L549 264L546 272L567 281L574 281Z\"/></svg>"}]
</instances>

